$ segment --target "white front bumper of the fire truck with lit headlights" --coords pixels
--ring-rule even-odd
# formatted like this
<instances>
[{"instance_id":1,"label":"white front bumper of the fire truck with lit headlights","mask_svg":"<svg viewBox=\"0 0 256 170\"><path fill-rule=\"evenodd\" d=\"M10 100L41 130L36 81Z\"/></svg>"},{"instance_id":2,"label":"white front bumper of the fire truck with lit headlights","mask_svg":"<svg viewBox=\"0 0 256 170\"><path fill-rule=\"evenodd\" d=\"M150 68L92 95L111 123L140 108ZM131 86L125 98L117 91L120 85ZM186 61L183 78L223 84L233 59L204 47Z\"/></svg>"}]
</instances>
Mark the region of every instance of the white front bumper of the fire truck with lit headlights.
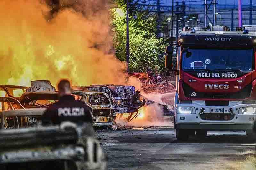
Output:
<instances>
[{"instance_id":1,"label":"white front bumper of the fire truck with lit headlights","mask_svg":"<svg viewBox=\"0 0 256 170\"><path fill-rule=\"evenodd\" d=\"M175 128L244 131L256 127L256 104L230 102L228 106L206 106L202 101L177 104Z\"/></svg>"}]
</instances>

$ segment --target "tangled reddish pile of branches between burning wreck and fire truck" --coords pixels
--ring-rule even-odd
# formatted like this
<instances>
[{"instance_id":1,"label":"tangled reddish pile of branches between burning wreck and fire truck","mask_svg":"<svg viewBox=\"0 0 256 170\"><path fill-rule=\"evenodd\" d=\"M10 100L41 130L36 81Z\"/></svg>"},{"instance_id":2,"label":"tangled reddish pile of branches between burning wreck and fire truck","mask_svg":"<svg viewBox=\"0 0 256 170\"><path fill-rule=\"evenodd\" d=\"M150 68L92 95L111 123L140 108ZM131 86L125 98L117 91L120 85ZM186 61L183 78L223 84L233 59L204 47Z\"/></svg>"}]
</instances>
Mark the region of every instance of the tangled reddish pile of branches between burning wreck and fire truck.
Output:
<instances>
[{"instance_id":1,"label":"tangled reddish pile of branches between burning wreck and fire truck","mask_svg":"<svg viewBox=\"0 0 256 170\"><path fill-rule=\"evenodd\" d=\"M174 87L174 85L172 85L169 82L165 82L161 85L158 84L148 84L146 82L141 82L142 83L142 88L141 90L143 90L144 93L148 94L148 93L169 93L169 92L174 92L176 90L176 88Z\"/></svg>"}]
</instances>

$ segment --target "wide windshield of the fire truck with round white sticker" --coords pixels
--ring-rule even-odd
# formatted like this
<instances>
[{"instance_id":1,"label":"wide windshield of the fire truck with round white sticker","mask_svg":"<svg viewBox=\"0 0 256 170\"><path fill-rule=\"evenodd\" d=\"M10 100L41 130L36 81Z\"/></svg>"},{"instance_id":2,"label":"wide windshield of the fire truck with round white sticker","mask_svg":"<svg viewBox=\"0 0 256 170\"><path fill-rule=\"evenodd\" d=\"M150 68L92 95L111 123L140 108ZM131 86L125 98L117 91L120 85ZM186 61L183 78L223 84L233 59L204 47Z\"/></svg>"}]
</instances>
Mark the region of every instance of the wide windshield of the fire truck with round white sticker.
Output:
<instances>
[{"instance_id":1,"label":"wide windshield of the fire truck with round white sticker","mask_svg":"<svg viewBox=\"0 0 256 170\"><path fill-rule=\"evenodd\" d=\"M254 70L252 49L189 49L182 54L183 70Z\"/></svg>"}]
</instances>

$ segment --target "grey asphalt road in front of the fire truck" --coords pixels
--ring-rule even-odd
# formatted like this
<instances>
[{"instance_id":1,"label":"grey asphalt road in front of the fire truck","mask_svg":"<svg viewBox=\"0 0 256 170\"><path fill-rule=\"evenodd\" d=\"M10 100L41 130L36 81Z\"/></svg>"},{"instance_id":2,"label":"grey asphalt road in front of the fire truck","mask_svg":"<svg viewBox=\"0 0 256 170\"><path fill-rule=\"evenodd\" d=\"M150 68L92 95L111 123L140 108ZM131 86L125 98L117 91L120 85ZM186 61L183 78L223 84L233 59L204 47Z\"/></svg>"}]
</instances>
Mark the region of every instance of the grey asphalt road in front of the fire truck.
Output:
<instances>
[{"instance_id":1,"label":"grey asphalt road in front of the fire truck","mask_svg":"<svg viewBox=\"0 0 256 170\"><path fill-rule=\"evenodd\" d=\"M255 144L245 136L208 133L178 142L172 126L98 130L108 169L256 169Z\"/></svg>"}]
</instances>

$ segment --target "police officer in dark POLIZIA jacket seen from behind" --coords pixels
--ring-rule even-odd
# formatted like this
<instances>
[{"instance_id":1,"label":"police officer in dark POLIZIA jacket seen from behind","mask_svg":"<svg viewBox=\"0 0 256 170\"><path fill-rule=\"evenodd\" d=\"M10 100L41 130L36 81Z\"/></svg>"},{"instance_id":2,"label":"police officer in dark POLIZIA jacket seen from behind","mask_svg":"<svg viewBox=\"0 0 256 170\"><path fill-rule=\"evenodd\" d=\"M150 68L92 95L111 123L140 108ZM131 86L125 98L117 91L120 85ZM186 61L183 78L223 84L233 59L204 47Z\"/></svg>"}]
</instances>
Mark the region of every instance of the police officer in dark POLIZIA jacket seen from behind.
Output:
<instances>
[{"instance_id":1,"label":"police officer in dark POLIZIA jacket seen from behind","mask_svg":"<svg viewBox=\"0 0 256 170\"><path fill-rule=\"evenodd\" d=\"M42 116L42 125L61 124L64 121L74 123L92 123L90 108L72 96L71 85L68 80L58 83L59 101L49 105Z\"/></svg>"}]
</instances>

